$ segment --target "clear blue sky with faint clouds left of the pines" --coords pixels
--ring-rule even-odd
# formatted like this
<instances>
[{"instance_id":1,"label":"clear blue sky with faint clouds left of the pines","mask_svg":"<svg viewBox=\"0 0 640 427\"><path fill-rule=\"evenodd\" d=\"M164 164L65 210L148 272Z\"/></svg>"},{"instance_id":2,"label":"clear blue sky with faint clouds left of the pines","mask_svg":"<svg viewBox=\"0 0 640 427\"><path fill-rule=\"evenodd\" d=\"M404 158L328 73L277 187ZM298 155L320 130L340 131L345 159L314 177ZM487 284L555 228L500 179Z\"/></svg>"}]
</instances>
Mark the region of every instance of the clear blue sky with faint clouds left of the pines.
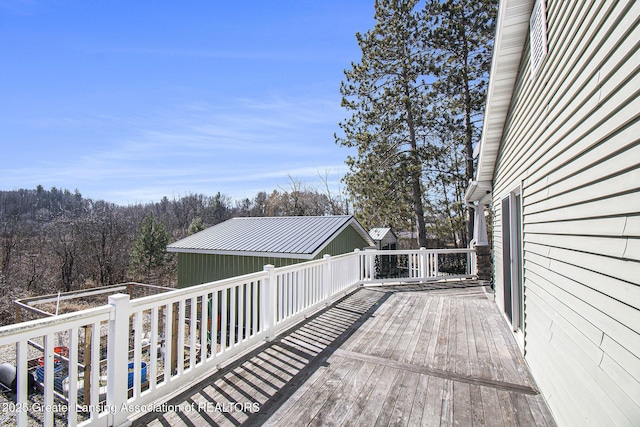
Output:
<instances>
[{"instance_id":1,"label":"clear blue sky with faint clouds left of the pines","mask_svg":"<svg viewBox=\"0 0 640 427\"><path fill-rule=\"evenodd\" d=\"M373 0L0 0L0 190L119 204L335 189Z\"/></svg>"}]
</instances>

